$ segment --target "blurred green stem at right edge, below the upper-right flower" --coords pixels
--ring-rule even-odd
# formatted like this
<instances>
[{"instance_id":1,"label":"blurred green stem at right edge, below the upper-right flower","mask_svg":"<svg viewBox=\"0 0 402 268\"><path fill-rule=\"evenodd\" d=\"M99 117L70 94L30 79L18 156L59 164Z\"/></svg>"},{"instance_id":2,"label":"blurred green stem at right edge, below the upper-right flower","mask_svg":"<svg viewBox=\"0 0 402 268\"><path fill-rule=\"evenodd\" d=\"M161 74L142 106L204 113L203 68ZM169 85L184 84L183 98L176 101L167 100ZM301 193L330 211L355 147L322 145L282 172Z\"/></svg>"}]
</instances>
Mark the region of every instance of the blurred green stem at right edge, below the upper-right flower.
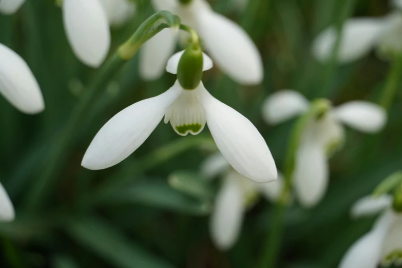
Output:
<instances>
[{"instance_id":1,"label":"blurred green stem at right edge, below the upper-right flower","mask_svg":"<svg viewBox=\"0 0 402 268\"><path fill-rule=\"evenodd\" d=\"M402 54L399 54L392 63L392 68L388 73L387 82L384 87L384 91L382 91L382 95L379 102L379 104L386 110L390 109L392 101L395 98L398 86L400 84L401 73L402 73Z\"/></svg>"}]
</instances>

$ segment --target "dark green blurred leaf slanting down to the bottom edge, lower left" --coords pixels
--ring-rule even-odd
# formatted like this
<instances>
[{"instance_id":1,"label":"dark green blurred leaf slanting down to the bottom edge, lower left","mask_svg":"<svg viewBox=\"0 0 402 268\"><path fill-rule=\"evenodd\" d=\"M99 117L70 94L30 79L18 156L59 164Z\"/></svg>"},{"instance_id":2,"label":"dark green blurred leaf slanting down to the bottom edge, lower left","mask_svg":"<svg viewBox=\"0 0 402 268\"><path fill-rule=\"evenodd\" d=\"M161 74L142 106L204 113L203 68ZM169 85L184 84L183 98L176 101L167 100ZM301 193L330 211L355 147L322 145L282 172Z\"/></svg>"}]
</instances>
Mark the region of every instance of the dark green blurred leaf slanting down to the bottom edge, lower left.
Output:
<instances>
[{"instance_id":1,"label":"dark green blurred leaf slanting down to the bottom edge, lower left","mask_svg":"<svg viewBox=\"0 0 402 268\"><path fill-rule=\"evenodd\" d=\"M146 252L108 223L94 218L68 219L67 232L84 248L118 268L173 268L158 256Z\"/></svg>"}]
</instances>

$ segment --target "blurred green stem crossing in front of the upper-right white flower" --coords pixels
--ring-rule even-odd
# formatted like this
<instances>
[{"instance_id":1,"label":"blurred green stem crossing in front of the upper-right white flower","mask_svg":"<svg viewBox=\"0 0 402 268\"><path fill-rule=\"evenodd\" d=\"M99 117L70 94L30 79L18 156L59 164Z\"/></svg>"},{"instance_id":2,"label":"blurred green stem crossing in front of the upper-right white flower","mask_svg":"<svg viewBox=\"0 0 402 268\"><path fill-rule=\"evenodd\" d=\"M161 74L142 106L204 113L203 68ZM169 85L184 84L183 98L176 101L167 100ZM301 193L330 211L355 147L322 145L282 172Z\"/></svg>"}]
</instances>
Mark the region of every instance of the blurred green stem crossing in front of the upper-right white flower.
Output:
<instances>
[{"instance_id":1,"label":"blurred green stem crossing in front of the upper-right white flower","mask_svg":"<svg viewBox=\"0 0 402 268\"><path fill-rule=\"evenodd\" d=\"M326 68L324 69L320 97L327 98L330 94L331 87L333 85L333 77L335 75L335 70L338 63L338 52L340 48L340 43L342 42L343 25L352 13L355 2L356 0L343 0L343 3L339 4L339 17L337 17L335 22L335 30L337 33L336 41L334 47L332 48L331 58L329 59Z\"/></svg>"}]
</instances>

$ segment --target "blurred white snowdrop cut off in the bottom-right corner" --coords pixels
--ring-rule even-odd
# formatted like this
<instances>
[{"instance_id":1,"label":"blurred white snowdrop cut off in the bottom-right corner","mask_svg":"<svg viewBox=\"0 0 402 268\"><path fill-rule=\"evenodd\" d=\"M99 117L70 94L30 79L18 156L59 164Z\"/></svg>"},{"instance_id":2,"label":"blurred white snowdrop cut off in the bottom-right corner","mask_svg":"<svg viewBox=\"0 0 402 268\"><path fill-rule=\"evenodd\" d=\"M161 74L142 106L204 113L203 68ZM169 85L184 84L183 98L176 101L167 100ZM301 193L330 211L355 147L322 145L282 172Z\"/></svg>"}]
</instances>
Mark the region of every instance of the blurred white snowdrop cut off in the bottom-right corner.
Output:
<instances>
[{"instance_id":1,"label":"blurred white snowdrop cut off in the bottom-right corner","mask_svg":"<svg viewBox=\"0 0 402 268\"><path fill-rule=\"evenodd\" d=\"M402 264L402 215L391 208L392 197L364 197L352 208L354 217L382 212L372 230L357 240L343 257L340 268L376 268Z\"/></svg>"}]
</instances>

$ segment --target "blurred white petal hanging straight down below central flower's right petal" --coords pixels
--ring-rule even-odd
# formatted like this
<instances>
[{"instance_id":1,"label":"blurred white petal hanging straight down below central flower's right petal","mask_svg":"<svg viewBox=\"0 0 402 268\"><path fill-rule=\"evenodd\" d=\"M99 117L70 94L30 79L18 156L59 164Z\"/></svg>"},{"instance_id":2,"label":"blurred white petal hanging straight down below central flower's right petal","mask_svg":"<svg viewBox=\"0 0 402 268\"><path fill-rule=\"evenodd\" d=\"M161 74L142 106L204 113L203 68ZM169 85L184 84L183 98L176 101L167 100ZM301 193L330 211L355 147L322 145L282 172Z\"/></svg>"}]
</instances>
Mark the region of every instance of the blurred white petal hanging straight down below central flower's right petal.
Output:
<instances>
[{"instance_id":1,"label":"blurred white petal hanging straight down below central flower's right petal","mask_svg":"<svg viewBox=\"0 0 402 268\"><path fill-rule=\"evenodd\" d=\"M244 216L241 187L236 180L225 178L210 221L212 240L220 250L234 245Z\"/></svg>"}]
</instances>

